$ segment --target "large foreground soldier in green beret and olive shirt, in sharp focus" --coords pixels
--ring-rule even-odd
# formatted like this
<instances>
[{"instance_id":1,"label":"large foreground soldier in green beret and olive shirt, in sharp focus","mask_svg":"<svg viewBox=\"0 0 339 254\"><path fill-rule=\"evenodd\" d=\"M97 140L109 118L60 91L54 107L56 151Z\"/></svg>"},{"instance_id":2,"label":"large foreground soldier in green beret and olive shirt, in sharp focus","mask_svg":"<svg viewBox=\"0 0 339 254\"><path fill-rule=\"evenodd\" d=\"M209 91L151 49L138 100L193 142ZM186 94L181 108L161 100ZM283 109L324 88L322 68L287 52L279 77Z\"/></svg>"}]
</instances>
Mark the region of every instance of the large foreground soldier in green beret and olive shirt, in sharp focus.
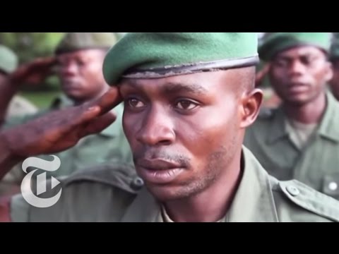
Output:
<instances>
[{"instance_id":1,"label":"large foreground soldier in green beret and olive shirt, in sharp focus","mask_svg":"<svg viewBox=\"0 0 339 254\"><path fill-rule=\"evenodd\" d=\"M79 172L61 182L60 199L52 207L13 197L8 218L338 222L338 200L299 181L269 176L242 145L263 99L254 87L257 63L256 33L125 35L109 50L103 73L124 100L124 132L145 186L132 193L117 186L120 176L107 169Z\"/></svg>"}]
</instances>

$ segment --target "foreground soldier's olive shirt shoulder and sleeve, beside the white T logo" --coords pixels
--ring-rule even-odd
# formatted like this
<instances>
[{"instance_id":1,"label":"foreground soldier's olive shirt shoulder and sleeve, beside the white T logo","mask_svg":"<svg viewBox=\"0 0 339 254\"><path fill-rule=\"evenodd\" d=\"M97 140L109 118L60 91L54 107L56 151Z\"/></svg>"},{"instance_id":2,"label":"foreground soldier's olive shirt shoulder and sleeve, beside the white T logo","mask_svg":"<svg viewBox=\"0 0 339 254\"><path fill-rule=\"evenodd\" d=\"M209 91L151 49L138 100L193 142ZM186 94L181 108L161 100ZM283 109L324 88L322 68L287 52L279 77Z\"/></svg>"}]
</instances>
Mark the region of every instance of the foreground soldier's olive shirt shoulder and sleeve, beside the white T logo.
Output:
<instances>
[{"instance_id":1,"label":"foreground soldier's olive shirt shoulder and sleeve, beside the white T logo","mask_svg":"<svg viewBox=\"0 0 339 254\"><path fill-rule=\"evenodd\" d=\"M129 165L100 165L58 178L60 187L40 194L51 198L61 190L59 200L50 207L30 205L23 195L11 199L12 222L118 222L143 181ZM51 186L46 183L46 186Z\"/></svg>"}]
</instances>

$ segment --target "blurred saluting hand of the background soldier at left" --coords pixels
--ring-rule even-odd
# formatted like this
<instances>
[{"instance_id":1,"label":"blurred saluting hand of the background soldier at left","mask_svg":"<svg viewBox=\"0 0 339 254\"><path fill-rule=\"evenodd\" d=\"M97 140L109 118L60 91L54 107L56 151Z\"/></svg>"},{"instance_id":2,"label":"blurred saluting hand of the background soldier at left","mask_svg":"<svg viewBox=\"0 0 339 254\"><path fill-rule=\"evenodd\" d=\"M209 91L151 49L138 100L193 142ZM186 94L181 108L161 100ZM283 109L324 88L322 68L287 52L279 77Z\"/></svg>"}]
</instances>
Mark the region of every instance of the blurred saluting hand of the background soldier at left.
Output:
<instances>
[{"instance_id":1,"label":"blurred saluting hand of the background soldier at left","mask_svg":"<svg viewBox=\"0 0 339 254\"><path fill-rule=\"evenodd\" d=\"M10 75L14 85L41 83L48 75L52 74L52 66L57 63L54 57L40 58L24 63Z\"/></svg>"}]
</instances>

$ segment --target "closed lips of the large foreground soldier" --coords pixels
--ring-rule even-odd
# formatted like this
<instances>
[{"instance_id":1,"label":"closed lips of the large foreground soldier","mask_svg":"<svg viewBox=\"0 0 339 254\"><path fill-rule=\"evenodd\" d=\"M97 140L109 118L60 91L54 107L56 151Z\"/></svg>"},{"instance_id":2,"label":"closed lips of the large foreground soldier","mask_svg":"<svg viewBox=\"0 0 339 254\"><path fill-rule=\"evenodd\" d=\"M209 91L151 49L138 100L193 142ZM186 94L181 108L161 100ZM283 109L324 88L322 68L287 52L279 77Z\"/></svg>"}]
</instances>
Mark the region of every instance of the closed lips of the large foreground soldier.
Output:
<instances>
[{"instance_id":1,"label":"closed lips of the large foreground soldier","mask_svg":"<svg viewBox=\"0 0 339 254\"><path fill-rule=\"evenodd\" d=\"M162 159L141 159L136 167L144 181L158 184L174 181L185 170L180 164Z\"/></svg>"}]
</instances>

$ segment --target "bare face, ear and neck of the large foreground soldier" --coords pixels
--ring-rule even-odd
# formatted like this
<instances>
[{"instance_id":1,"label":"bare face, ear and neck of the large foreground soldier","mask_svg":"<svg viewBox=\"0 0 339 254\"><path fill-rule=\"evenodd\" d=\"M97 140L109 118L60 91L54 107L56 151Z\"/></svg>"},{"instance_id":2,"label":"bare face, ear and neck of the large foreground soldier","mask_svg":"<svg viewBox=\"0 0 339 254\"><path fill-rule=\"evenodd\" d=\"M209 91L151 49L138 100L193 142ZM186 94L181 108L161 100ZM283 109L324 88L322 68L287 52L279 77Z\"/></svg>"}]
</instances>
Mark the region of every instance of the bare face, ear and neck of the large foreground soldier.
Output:
<instances>
[{"instance_id":1,"label":"bare face, ear and neck of the large foreground soldier","mask_svg":"<svg viewBox=\"0 0 339 254\"><path fill-rule=\"evenodd\" d=\"M254 68L122 80L136 171L175 222L225 216L241 178L245 128L262 100Z\"/></svg>"}]
</instances>

